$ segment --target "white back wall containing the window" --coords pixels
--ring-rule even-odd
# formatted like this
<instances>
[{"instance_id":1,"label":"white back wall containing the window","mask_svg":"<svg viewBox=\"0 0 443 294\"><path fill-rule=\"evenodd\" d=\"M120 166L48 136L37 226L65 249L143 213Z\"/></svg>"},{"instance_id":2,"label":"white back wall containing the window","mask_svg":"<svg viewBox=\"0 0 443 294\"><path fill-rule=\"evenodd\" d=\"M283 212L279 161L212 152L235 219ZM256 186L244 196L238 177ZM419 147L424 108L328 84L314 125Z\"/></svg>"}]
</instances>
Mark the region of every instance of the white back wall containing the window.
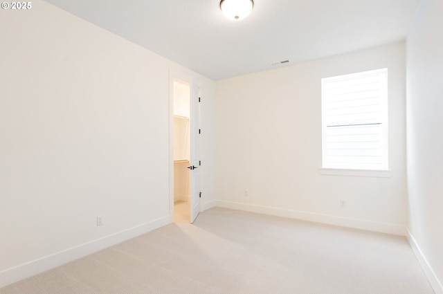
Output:
<instances>
[{"instance_id":1,"label":"white back wall containing the window","mask_svg":"<svg viewBox=\"0 0 443 294\"><path fill-rule=\"evenodd\" d=\"M404 235L404 60L399 42L217 81L217 205ZM384 67L390 178L320 175L320 79Z\"/></svg>"}]
</instances>

